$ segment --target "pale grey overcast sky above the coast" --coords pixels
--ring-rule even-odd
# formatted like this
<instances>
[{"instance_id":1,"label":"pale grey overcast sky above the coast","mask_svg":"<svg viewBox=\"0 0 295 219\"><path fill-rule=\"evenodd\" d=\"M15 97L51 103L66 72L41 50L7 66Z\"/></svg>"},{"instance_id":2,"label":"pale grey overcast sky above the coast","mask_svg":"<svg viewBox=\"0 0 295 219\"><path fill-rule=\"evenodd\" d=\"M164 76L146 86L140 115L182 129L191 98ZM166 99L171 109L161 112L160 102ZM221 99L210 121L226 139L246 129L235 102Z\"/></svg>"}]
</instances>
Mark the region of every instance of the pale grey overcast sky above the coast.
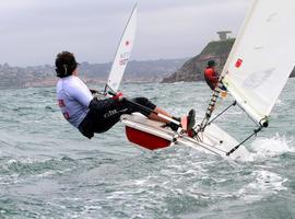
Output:
<instances>
[{"instance_id":1,"label":"pale grey overcast sky above the coast","mask_svg":"<svg viewBox=\"0 0 295 219\"><path fill-rule=\"evenodd\" d=\"M216 32L235 36L250 0L0 0L0 64L54 65L70 50L91 64L111 61L139 4L132 60L187 58Z\"/></svg>"}]
</instances>

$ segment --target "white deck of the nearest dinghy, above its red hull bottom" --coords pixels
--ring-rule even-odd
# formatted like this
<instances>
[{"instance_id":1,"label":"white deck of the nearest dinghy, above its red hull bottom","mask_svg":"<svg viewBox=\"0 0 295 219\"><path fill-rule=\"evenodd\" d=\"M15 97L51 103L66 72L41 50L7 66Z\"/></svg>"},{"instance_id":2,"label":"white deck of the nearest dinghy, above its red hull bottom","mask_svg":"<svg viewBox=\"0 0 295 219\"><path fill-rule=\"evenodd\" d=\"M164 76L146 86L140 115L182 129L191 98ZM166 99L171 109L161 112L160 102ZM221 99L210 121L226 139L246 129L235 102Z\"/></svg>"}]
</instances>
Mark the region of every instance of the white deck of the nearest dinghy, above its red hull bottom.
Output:
<instances>
[{"instance_id":1,"label":"white deck of the nearest dinghy, above its red hull bottom","mask_svg":"<svg viewBox=\"0 0 295 219\"><path fill-rule=\"evenodd\" d=\"M122 115L121 122L131 128L158 136L161 138L170 140L172 142L174 141L175 145L192 147L194 149L225 158L228 158L226 152L238 145L236 139L231 137L214 124L208 126L204 132L199 134L198 139L191 138L186 134L180 136L170 128L163 128L163 123L148 119L139 114ZM244 146L240 146L234 153L229 155L229 158L238 160L248 160L249 157L250 153Z\"/></svg>"}]
</instances>

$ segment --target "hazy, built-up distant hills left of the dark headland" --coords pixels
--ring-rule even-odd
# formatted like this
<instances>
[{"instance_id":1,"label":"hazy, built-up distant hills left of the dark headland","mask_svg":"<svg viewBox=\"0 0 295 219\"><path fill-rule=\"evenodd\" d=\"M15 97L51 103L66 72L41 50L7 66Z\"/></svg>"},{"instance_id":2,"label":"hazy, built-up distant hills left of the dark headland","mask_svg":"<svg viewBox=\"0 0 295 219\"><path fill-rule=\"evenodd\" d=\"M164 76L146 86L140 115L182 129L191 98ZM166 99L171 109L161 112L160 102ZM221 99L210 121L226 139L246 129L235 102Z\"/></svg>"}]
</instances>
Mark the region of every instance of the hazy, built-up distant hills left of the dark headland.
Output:
<instances>
[{"instance_id":1,"label":"hazy, built-up distant hills left of the dark headland","mask_svg":"<svg viewBox=\"0 0 295 219\"><path fill-rule=\"evenodd\" d=\"M164 77L180 68L187 59L160 59L150 61L130 61L127 66L123 81L129 82L160 82ZM88 83L104 83L111 62L82 62L79 67L81 78ZM50 87L57 78L54 66L11 67L0 65L0 89Z\"/></svg>"}]
</instances>

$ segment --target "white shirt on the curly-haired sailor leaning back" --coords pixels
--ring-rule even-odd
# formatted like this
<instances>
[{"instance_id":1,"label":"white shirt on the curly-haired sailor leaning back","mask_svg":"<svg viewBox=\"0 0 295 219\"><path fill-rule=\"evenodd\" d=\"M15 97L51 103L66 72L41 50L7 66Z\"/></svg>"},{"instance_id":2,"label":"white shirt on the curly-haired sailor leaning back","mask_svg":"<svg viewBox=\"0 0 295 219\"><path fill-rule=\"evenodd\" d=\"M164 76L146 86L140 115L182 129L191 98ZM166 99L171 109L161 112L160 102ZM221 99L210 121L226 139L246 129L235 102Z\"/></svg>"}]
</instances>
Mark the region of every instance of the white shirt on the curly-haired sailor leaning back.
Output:
<instances>
[{"instance_id":1,"label":"white shirt on the curly-haired sailor leaning back","mask_svg":"<svg viewBox=\"0 0 295 219\"><path fill-rule=\"evenodd\" d=\"M69 76L59 79L57 83L58 105L64 118L74 127L79 127L80 123L88 113L88 105L93 95L86 84L75 76Z\"/></svg>"}]
</instances>

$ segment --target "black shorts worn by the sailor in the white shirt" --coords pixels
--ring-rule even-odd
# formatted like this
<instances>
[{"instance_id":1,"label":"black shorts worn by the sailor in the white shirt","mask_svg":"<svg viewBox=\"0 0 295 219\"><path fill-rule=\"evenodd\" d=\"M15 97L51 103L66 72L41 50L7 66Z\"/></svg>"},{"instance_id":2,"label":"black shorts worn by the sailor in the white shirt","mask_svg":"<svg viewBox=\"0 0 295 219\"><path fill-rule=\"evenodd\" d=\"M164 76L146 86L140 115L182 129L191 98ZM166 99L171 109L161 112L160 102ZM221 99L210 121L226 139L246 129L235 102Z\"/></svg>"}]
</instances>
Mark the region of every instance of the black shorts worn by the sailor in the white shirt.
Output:
<instances>
[{"instance_id":1,"label":"black shorts worn by the sailor in the white shirt","mask_svg":"<svg viewBox=\"0 0 295 219\"><path fill-rule=\"evenodd\" d=\"M155 110L156 105L145 97L132 99L142 106ZM117 101L113 99L97 100L93 99L90 104L90 112L79 125L79 130L87 138L92 138L94 132L105 132L120 120L122 114L131 114L134 112L142 113L145 116L150 112L135 106L128 101Z\"/></svg>"}]
</instances>

